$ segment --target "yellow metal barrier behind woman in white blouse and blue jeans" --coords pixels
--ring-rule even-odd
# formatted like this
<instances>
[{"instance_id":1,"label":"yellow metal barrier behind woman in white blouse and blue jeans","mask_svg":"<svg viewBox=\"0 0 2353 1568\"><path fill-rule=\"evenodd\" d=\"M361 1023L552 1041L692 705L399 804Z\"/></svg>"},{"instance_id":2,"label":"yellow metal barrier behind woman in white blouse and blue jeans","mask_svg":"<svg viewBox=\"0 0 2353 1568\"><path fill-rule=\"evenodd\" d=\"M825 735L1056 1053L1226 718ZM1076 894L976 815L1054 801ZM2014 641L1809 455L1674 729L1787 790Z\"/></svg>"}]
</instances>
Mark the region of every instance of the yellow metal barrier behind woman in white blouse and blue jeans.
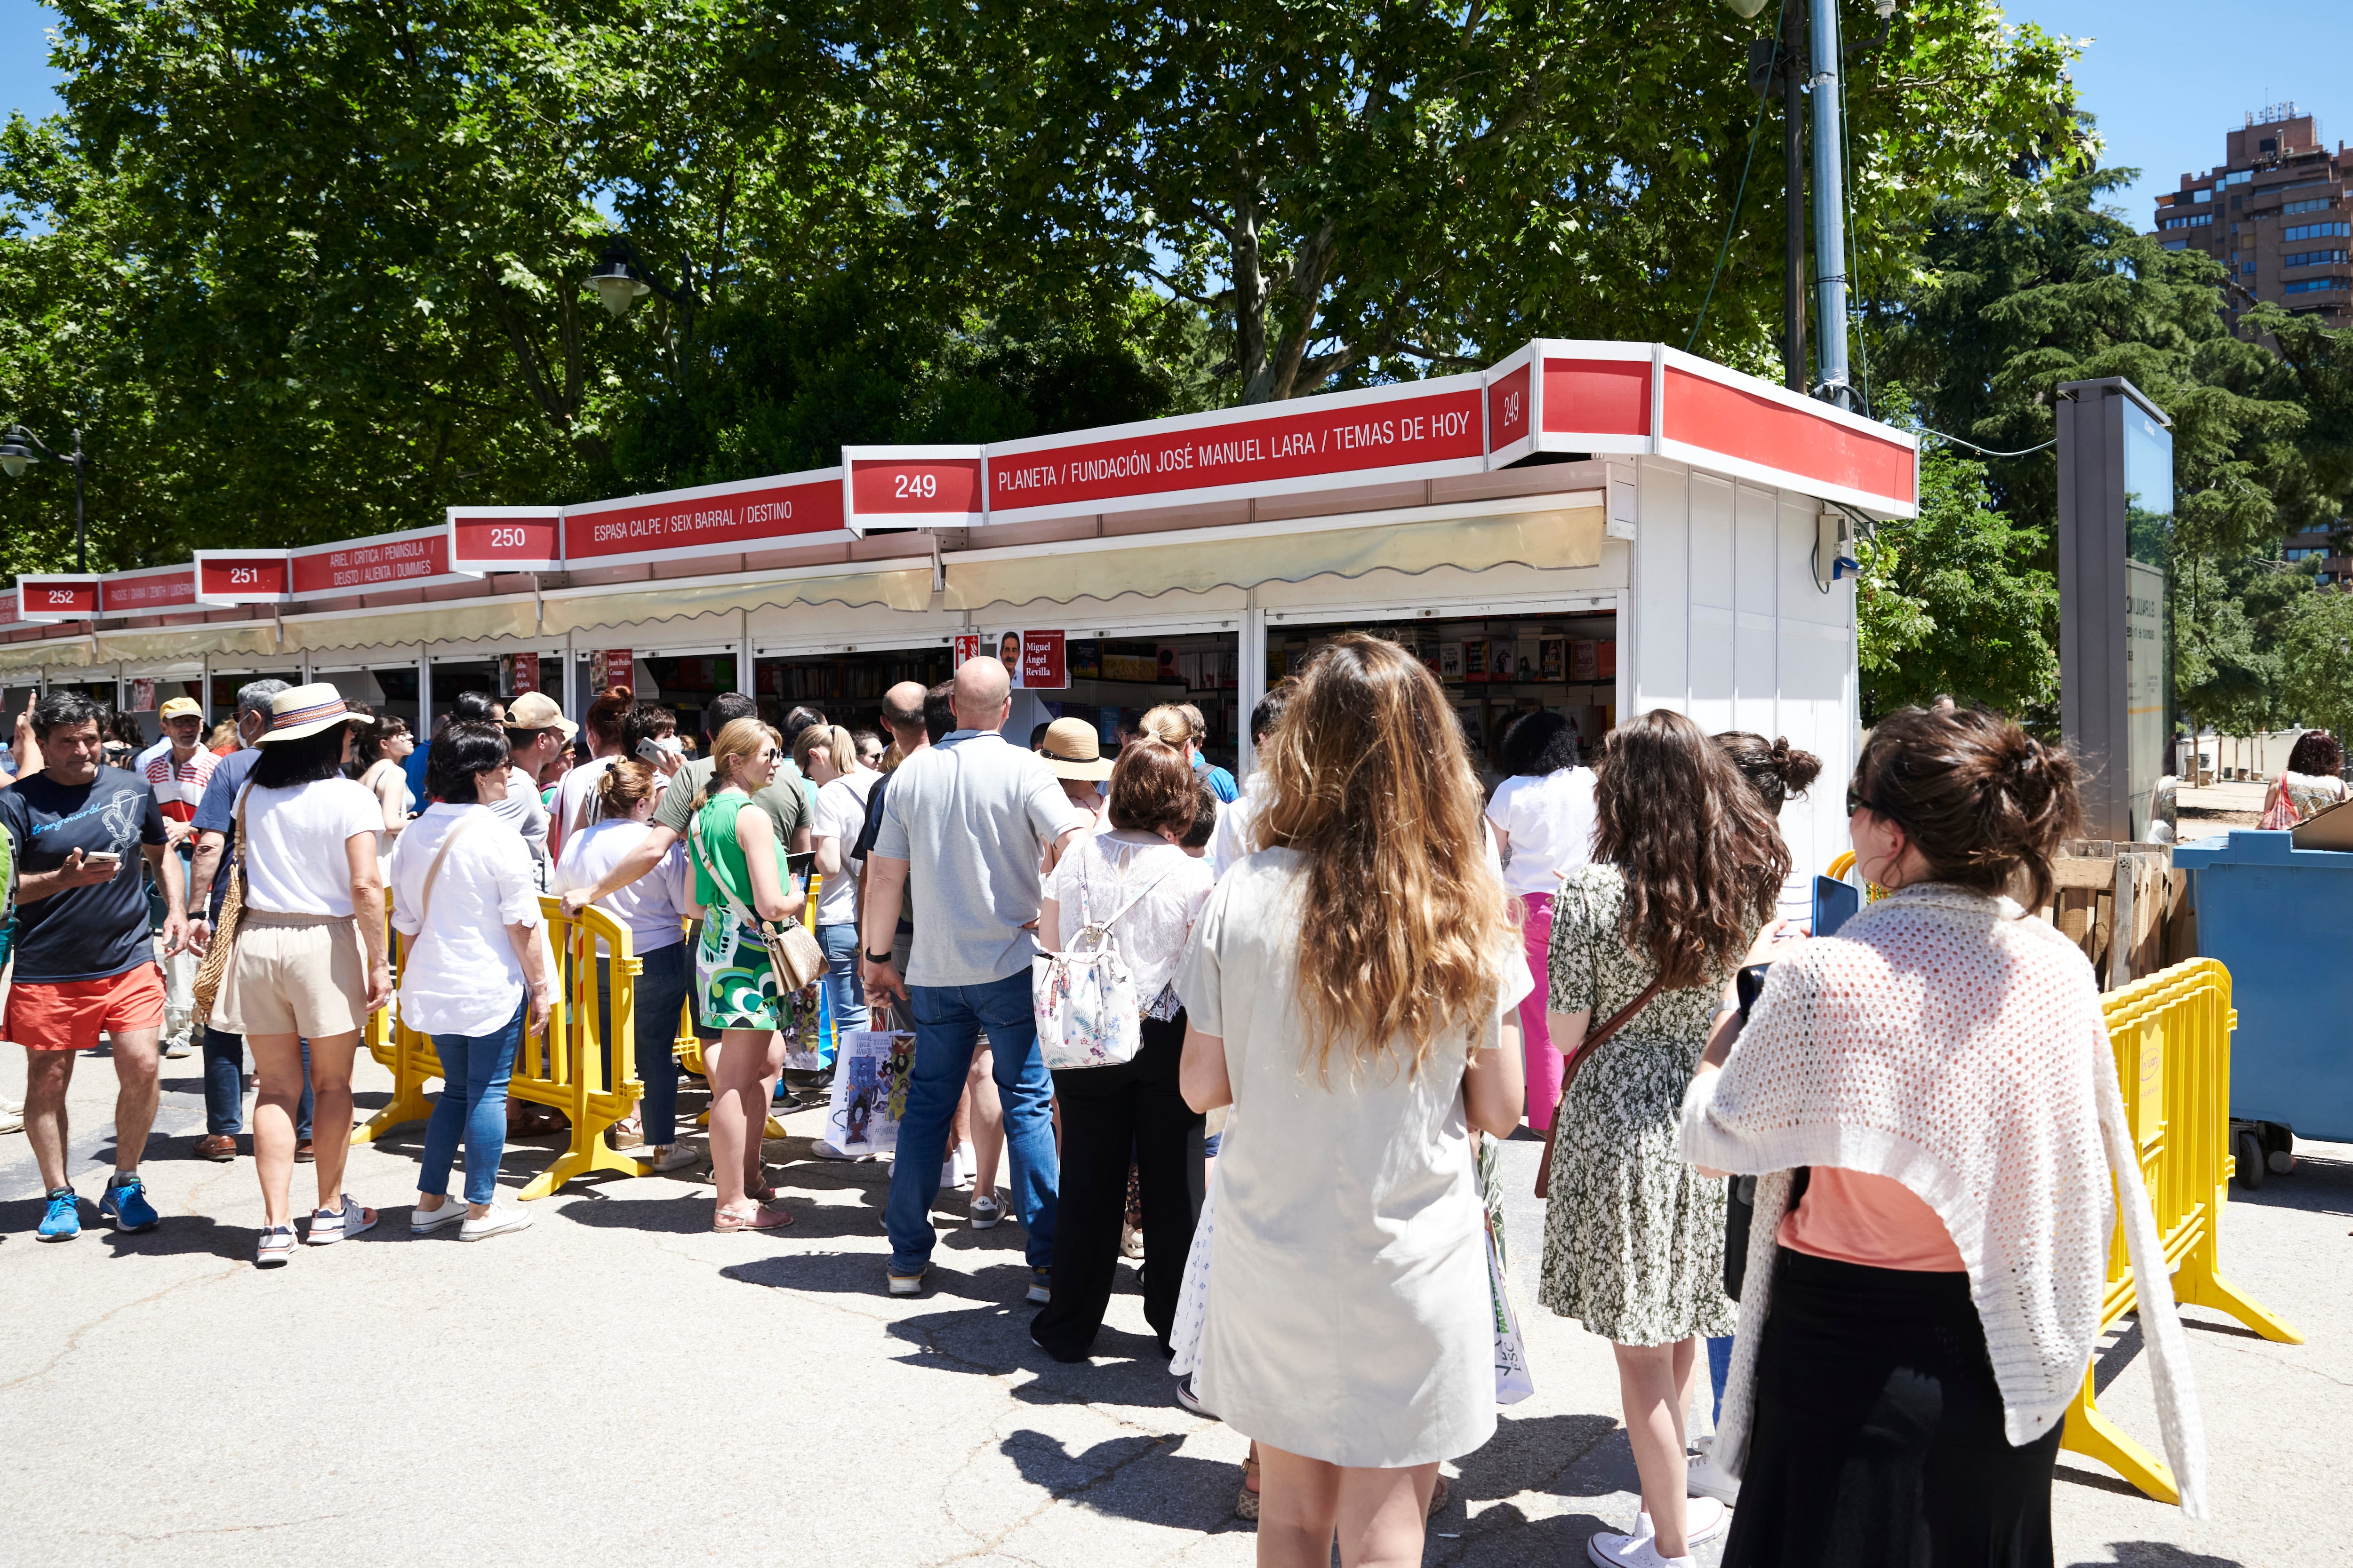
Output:
<instances>
[{"instance_id":1,"label":"yellow metal barrier behind woman in white blouse and blue jeans","mask_svg":"<svg viewBox=\"0 0 2353 1568\"><path fill-rule=\"evenodd\" d=\"M386 900L386 910L391 900ZM626 1154L616 1154L605 1143L605 1131L626 1121L635 1110L645 1084L638 1079L638 1060L628 1048L631 1023L635 1018L635 990L642 964L631 957L628 926L598 907L565 914L560 898L541 896L539 912L548 922L548 943L555 947L560 985L546 1027L527 1032L515 1051L515 1072L508 1079L508 1098L529 1105L548 1105L572 1119L572 1143L522 1190L525 1199L541 1199L562 1187L574 1175L591 1171L621 1171L645 1175L645 1166ZM605 1051L598 1018L598 947L605 950L612 997L612 1051ZM393 978L400 973L398 933L393 943ZM440 1056L433 1041L398 1018L376 1013L367 1020L367 1051L393 1070L393 1100L351 1140L369 1143L386 1128L433 1114L433 1098L426 1095L426 1079L442 1077ZM605 1058L612 1058L612 1072ZM607 1077L612 1081L607 1081Z\"/></svg>"}]
</instances>

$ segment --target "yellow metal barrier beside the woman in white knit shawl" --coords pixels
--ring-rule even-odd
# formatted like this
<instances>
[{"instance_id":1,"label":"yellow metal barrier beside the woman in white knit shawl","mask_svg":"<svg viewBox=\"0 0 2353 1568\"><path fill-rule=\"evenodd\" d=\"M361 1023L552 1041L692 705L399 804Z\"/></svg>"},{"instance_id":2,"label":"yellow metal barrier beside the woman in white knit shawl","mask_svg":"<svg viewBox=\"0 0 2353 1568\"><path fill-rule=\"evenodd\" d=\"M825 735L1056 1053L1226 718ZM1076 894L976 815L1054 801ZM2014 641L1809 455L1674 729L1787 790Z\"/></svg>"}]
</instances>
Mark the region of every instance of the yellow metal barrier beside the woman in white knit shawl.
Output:
<instances>
[{"instance_id":1,"label":"yellow metal barrier beside the woman in white knit shawl","mask_svg":"<svg viewBox=\"0 0 2353 1568\"><path fill-rule=\"evenodd\" d=\"M2174 1300L2228 1312L2266 1340L2301 1345L2304 1335L2264 1312L2221 1276L2221 1206L2231 1182L2231 971L2188 959L2108 992L2108 1041L2125 1091L2125 1121L2141 1152L2141 1180L2158 1215ZM2108 1293L2099 1331L2134 1309L2132 1258L2118 1218L2108 1244ZM2172 1472L2092 1403L2092 1368L2066 1410L2061 1448L2085 1453L2151 1497L2179 1502Z\"/></svg>"}]
</instances>

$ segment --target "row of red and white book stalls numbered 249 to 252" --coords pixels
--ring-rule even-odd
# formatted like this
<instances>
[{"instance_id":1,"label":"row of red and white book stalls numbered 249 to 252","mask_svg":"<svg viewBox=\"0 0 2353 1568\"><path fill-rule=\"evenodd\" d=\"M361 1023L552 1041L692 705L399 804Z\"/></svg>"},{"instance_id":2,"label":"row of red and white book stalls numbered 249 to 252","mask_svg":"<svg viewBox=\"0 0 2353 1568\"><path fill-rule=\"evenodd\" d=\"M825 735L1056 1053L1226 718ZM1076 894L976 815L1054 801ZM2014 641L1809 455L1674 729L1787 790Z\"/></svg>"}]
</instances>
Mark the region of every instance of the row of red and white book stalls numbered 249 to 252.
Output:
<instances>
[{"instance_id":1,"label":"row of red and white book stalls numbered 249 to 252","mask_svg":"<svg viewBox=\"0 0 2353 1568\"><path fill-rule=\"evenodd\" d=\"M1904 430L1659 343L1544 339L1482 374L26 576L0 682L16 703L141 682L226 717L254 675L313 677L419 726L466 689L579 712L628 682L685 729L734 689L871 724L889 684L986 651L1019 672L1016 741L1078 715L1108 743L1191 701L1247 769L1266 684L1367 630L1438 672L1482 755L1518 712L1595 743L1675 708L1788 736L1835 780L1857 743L1840 562L1859 520L1915 498ZM1821 865L1835 790L1784 832Z\"/></svg>"}]
</instances>

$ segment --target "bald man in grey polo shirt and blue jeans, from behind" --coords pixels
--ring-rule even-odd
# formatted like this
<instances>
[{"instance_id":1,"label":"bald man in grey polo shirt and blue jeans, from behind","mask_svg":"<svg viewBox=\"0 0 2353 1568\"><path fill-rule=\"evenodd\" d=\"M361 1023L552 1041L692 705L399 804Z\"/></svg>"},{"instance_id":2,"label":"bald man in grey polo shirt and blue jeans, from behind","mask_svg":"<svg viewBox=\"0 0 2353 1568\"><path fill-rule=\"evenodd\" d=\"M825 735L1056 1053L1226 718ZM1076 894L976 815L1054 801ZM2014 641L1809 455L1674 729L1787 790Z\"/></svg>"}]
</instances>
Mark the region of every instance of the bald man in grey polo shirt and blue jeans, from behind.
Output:
<instances>
[{"instance_id":1,"label":"bald man in grey polo shirt and blue jeans, from behind","mask_svg":"<svg viewBox=\"0 0 2353 1568\"><path fill-rule=\"evenodd\" d=\"M995 658L955 672L955 724L889 776L875 851L866 860L861 976L866 992L906 997L915 1016L915 1072L892 1159L889 1293L913 1295L932 1258L932 1199L948 1124L981 1030L1005 1100L1014 1206L1028 1229L1028 1300L1049 1298L1054 1260L1054 1079L1038 1056L1031 1011L1040 849L1052 865L1092 818L1073 806L1045 759L1009 745L1012 675ZM922 893L922 922L901 978L892 959L899 903Z\"/></svg>"}]
</instances>

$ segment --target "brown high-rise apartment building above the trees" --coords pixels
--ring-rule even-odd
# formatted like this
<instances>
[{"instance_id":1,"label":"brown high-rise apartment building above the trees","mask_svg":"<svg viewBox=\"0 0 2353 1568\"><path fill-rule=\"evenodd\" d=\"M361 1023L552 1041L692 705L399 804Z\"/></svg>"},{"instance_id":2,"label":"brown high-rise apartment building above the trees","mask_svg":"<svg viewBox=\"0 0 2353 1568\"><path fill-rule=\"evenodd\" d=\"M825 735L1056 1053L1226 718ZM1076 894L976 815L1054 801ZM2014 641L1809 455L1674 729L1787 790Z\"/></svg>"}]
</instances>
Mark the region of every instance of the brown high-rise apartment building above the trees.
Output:
<instances>
[{"instance_id":1,"label":"brown high-rise apartment building above the trees","mask_svg":"<svg viewBox=\"0 0 2353 1568\"><path fill-rule=\"evenodd\" d=\"M2155 202L2153 237L2165 249L2198 249L2231 273L2228 317L2254 301L2327 327L2353 327L2353 153L2320 143L2320 125L2294 103L2249 113L2228 132L2224 162L2184 174Z\"/></svg>"}]
</instances>

